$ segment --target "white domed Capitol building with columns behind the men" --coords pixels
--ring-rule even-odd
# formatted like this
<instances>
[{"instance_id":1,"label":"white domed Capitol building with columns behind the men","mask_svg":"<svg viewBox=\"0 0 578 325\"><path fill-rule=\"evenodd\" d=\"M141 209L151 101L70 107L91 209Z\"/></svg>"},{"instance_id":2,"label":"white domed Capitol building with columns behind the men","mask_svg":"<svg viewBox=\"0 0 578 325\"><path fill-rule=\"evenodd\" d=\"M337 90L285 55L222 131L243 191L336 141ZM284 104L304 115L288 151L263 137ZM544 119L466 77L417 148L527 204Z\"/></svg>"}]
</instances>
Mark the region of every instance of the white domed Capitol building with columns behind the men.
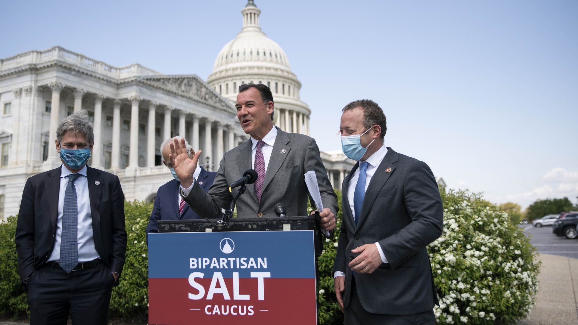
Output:
<instances>
[{"instance_id":1,"label":"white domed Capitol building with columns behind the men","mask_svg":"<svg viewBox=\"0 0 578 325\"><path fill-rule=\"evenodd\" d=\"M126 200L153 200L172 178L159 151L166 138L185 136L210 170L249 139L233 105L240 84L267 84L275 125L309 135L311 110L299 98L301 82L283 49L261 31L260 13L252 0L243 8L242 31L218 53L206 82L140 64L113 67L59 46L1 59L0 220L18 212L27 178L61 164L56 128L80 109L94 125L88 164L118 175ZM321 152L321 158L339 189L354 161L341 152Z\"/></svg>"}]
</instances>

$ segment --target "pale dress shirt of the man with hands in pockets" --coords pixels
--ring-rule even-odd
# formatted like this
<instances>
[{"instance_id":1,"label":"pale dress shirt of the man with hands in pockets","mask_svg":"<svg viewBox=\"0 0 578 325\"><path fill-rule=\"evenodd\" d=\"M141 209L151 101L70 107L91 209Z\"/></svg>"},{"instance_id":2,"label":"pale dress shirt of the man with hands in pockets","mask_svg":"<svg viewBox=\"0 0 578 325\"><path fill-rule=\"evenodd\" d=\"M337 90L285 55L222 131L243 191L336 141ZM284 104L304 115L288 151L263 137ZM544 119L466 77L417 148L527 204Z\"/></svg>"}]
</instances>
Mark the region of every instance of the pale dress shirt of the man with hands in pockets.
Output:
<instances>
[{"instance_id":1,"label":"pale dress shirt of the man with hands in pockets","mask_svg":"<svg viewBox=\"0 0 578 325\"><path fill-rule=\"evenodd\" d=\"M92 234L92 213L90 212L90 195L88 195L88 179L86 175L86 165L79 172L80 176L74 185L76 189L76 202L78 205L78 261L88 262L99 258L97 249L94 248L94 236ZM58 262L60 260L60 238L62 235L62 212L64 212L64 195L68 185L69 171L64 164L60 169L60 191L58 193L58 221L56 223L56 236L54 238L54 249L48 261Z\"/></svg>"}]
</instances>

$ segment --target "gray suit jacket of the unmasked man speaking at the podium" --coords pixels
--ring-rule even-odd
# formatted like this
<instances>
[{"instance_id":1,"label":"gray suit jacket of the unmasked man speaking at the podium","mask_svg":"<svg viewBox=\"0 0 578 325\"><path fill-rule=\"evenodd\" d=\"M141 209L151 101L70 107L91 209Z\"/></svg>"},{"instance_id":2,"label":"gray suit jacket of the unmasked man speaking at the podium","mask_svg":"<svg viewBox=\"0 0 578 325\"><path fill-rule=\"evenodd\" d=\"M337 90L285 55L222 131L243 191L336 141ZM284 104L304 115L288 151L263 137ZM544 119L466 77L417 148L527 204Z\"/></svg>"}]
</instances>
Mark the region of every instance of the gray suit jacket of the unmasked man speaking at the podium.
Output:
<instances>
[{"instance_id":1,"label":"gray suit jacket of the unmasked man speaking at the podium","mask_svg":"<svg viewBox=\"0 0 578 325\"><path fill-rule=\"evenodd\" d=\"M217 176L208 193L195 182L184 200L199 216L219 218L221 208L228 208L237 191L232 189L230 193L229 184L241 178L243 172L251 168L249 139L223 155ZM304 174L307 171L315 171L317 175L324 208L330 208L337 214L337 196L329 183L327 171L313 138L283 132L277 128L277 137L266 171L261 202L257 201L254 184L248 184L246 192L237 200L239 218L275 217L273 206L279 202L286 206L287 216L306 216L309 191L305 185Z\"/></svg>"}]
</instances>

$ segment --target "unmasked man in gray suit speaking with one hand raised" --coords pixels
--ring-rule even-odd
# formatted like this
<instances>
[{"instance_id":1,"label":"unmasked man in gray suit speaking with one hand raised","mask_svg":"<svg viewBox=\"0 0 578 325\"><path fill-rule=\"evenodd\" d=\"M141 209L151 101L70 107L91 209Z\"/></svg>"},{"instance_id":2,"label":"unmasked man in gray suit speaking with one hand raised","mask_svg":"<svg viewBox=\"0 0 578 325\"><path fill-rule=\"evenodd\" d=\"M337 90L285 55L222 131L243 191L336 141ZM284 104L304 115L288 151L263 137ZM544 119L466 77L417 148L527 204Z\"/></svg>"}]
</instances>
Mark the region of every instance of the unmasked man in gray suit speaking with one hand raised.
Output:
<instances>
[{"instance_id":1,"label":"unmasked man in gray suit speaking with one hand raised","mask_svg":"<svg viewBox=\"0 0 578 325\"><path fill-rule=\"evenodd\" d=\"M247 185L247 191L236 202L239 218L275 217L273 206L278 202L287 208L287 216L307 215L309 192L305 172L314 171L323 200L320 226L335 228L337 198L321 162L313 138L287 133L273 126L273 95L264 84L242 84L235 104L237 117L251 138L223 155L213 186L205 193L195 182L193 172L201 152L189 158L184 141L175 139L171 145L171 164L181 180L181 195L199 216L218 218L221 208L227 208L237 189L229 184L255 169L257 181Z\"/></svg>"}]
</instances>

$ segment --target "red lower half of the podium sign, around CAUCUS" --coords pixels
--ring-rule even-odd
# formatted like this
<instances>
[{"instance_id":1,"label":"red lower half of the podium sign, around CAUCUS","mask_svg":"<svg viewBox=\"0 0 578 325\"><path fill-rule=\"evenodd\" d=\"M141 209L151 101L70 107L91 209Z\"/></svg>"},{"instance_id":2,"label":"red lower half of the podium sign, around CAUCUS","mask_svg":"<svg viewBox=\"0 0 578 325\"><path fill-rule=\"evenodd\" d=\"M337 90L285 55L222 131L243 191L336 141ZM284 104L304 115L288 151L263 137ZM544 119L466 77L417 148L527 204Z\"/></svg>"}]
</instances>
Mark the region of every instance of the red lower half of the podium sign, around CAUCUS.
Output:
<instances>
[{"instance_id":1,"label":"red lower half of the podium sign, around CAUCUS","mask_svg":"<svg viewBox=\"0 0 578 325\"><path fill-rule=\"evenodd\" d=\"M211 279L195 282L205 288L201 300L188 298L199 294L188 279L149 279L149 324L316 324L314 279L266 278L264 300L257 279L239 279L239 294L250 300L234 300L233 279L225 279L230 300L221 293L207 300Z\"/></svg>"}]
</instances>

